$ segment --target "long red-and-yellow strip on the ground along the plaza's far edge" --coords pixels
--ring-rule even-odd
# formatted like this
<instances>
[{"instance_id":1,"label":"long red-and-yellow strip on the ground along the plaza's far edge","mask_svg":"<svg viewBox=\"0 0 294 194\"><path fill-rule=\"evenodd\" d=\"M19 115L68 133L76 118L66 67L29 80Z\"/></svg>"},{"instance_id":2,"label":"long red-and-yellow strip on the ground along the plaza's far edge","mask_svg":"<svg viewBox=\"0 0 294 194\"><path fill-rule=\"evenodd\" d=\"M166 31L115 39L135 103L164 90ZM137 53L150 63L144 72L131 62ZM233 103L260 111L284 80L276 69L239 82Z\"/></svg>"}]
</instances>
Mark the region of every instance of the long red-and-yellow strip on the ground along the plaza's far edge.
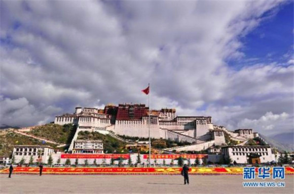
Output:
<instances>
[{"instance_id":1,"label":"long red-and-yellow strip on the ground along the plaza's far edge","mask_svg":"<svg viewBox=\"0 0 294 194\"><path fill-rule=\"evenodd\" d=\"M175 174L180 175L182 168L167 168L167 167L158 167L158 168L47 168L44 167L43 174ZM258 173L255 169L255 173ZM15 167L13 174L38 174L40 171L39 167ZM270 170L272 173L272 168ZM0 170L0 174L8 174L9 168ZM210 175L219 175L219 174L243 174L242 167L192 167L189 169L189 174L210 174ZM292 167L285 167L286 175L294 175L294 169Z\"/></svg>"}]
</instances>

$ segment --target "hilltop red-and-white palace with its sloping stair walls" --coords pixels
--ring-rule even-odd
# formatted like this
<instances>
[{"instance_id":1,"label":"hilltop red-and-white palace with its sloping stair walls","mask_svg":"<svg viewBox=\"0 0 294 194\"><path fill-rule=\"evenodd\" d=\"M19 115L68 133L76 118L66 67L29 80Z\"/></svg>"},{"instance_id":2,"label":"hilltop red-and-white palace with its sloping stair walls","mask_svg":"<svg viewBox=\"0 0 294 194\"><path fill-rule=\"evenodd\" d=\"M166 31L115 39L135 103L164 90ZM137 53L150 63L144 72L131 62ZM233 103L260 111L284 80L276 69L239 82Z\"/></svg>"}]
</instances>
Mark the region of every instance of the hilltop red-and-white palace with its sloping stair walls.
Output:
<instances>
[{"instance_id":1,"label":"hilltop red-and-white palace with its sloping stair walls","mask_svg":"<svg viewBox=\"0 0 294 194\"><path fill-rule=\"evenodd\" d=\"M151 110L142 104L108 104L104 109L77 107L75 113L55 117L55 124L68 123L78 126L72 139L69 151L80 131L97 131L102 134L119 134L135 137L171 139L188 141L192 145L172 148L176 151L201 151L211 146L225 144L224 132L233 140L244 142L253 138L252 129L238 129L228 131L223 126L215 126L211 117L204 116L176 116L175 109ZM254 135L258 135L254 133ZM166 149L169 150L169 149Z\"/></svg>"}]
</instances>

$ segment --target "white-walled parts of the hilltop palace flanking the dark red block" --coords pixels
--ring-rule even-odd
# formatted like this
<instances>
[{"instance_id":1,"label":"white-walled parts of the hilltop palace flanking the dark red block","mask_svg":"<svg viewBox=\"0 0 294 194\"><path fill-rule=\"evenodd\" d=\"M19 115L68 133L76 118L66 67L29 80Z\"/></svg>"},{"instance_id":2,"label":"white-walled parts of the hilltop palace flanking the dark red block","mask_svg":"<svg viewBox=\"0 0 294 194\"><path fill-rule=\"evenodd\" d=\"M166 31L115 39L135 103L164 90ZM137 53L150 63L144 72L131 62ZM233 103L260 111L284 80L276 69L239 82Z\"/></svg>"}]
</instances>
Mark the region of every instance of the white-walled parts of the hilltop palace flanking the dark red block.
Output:
<instances>
[{"instance_id":1,"label":"white-walled parts of the hilltop palace flanking the dark red block","mask_svg":"<svg viewBox=\"0 0 294 194\"><path fill-rule=\"evenodd\" d=\"M127 136L148 137L149 117L142 116L139 119L117 119L112 121L112 115L102 113L95 108L77 107L73 114L64 114L55 117L55 124L77 124L78 131L98 131L107 134L113 131ZM202 136L213 129L211 117L175 116L175 109L162 109L158 115L151 116L151 136L153 138L168 138L165 130L185 130L185 135Z\"/></svg>"}]
</instances>

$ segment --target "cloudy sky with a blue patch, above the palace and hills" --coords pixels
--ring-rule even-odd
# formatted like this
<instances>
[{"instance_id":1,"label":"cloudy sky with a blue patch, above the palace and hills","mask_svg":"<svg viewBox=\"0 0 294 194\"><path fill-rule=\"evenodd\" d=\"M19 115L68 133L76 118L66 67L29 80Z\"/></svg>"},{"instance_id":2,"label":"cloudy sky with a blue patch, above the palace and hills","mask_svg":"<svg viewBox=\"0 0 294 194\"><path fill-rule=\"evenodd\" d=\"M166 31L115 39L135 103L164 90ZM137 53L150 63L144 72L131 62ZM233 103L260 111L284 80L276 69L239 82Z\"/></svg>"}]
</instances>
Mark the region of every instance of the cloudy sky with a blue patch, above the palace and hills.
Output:
<instances>
[{"instance_id":1,"label":"cloudy sky with a blue patch, above the palace and hills","mask_svg":"<svg viewBox=\"0 0 294 194\"><path fill-rule=\"evenodd\" d=\"M1 124L148 103L293 130L292 1L1 1Z\"/></svg>"}]
</instances>

